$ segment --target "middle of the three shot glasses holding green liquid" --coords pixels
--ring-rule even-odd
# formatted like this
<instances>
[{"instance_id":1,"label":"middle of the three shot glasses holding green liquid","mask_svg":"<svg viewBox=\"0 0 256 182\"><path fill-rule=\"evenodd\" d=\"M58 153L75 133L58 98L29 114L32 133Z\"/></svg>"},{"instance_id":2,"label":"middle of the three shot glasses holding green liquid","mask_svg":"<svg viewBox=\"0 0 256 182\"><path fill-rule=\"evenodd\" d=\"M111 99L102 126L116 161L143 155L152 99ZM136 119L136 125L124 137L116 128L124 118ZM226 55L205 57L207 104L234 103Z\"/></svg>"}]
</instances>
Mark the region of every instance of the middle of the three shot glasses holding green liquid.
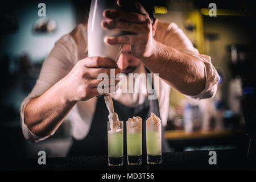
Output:
<instances>
[{"instance_id":1,"label":"middle of the three shot glasses holding green liquid","mask_svg":"<svg viewBox=\"0 0 256 182\"><path fill-rule=\"evenodd\" d=\"M142 164L142 121L126 122L127 164Z\"/></svg>"}]
</instances>

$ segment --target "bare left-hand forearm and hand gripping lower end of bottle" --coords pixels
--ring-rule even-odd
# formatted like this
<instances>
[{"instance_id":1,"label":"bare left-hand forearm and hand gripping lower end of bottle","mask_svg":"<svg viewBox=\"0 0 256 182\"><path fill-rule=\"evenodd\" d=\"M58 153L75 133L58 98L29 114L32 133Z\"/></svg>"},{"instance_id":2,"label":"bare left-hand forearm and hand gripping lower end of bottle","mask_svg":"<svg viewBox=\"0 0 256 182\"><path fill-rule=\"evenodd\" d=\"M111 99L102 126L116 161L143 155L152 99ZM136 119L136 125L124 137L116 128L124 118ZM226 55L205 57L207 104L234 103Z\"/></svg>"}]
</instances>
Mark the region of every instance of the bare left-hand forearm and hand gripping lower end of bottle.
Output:
<instances>
[{"instance_id":1,"label":"bare left-hand forearm and hand gripping lower end of bottle","mask_svg":"<svg viewBox=\"0 0 256 182\"><path fill-rule=\"evenodd\" d=\"M116 75L121 72L115 61L106 57L86 57L78 61L67 76L28 102L24 109L28 129L39 137L55 132L77 101L100 95L97 86L101 80L97 77L100 73L110 77L110 68L115 69ZM115 85L118 82L115 81ZM115 85L108 85L109 92Z\"/></svg>"}]
</instances>

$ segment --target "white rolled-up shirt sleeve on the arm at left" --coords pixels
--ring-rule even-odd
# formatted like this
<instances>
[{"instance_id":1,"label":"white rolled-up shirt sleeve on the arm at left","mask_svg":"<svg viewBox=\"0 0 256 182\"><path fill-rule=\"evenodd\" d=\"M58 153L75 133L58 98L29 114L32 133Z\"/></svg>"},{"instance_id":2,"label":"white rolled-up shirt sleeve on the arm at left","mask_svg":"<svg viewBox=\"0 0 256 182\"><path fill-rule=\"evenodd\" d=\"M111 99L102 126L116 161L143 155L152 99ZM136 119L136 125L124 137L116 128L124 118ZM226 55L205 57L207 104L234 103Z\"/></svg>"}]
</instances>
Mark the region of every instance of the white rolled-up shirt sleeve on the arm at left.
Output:
<instances>
[{"instance_id":1,"label":"white rolled-up shirt sleeve on the arm at left","mask_svg":"<svg viewBox=\"0 0 256 182\"><path fill-rule=\"evenodd\" d=\"M23 135L31 142L39 142L47 137L39 137L33 134L27 127L24 120L24 109L27 103L33 98L41 96L57 81L61 80L73 68L77 62L77 47L76 43L70 35L63 36L55 44L55 47L49 53L48 57L43 63L40 75L31 93L24 98L20 105L20 125L22 127Z\"/></svg>"}]
</instances>

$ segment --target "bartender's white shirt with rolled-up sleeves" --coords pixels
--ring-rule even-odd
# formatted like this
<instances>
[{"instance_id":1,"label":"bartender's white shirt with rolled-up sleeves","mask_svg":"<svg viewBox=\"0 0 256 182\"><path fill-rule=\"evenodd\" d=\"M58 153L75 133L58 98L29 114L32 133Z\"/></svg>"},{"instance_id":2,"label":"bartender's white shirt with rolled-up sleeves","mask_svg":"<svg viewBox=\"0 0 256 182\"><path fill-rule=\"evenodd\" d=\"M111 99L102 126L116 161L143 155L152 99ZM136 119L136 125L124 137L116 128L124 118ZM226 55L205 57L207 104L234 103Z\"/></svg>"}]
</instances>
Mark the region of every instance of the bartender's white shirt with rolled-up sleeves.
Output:
<instances>
[{"instance_id":1,"label":"bartender's white shirt with rolled-up sleeves","mask_svg":"<svg viewBox=\"0 0 256 182\"><path fill-rule=\"evenodd\" d=\"M200 100L201 98L213 97L217 90L217 82L219 76L216 69L213 67L210 57L200 55L199 51L193 47L191 41L185 36L184 32L177 27L175 23L159 22L155 34L155 40L177 49L187 55L194 56L196 59L201 60L205 66L205 89L197 94L197 96L188 96ZM88 56L87 48L87 33L86 26L80 24L70 34L64 35L60 38L55 47L49 53L48 57L43 63L40 75L31 93L24 98L20 106L20 122L22 126L23 135L26 139L32 142L39 142L47 137L38 137L33 134L24 121L24 107L32 98L38 97L43 94L47 89L54 85L57 81L61 80L67 75L73 66L80 59ZM143 64L142 67L137 68L136 72L145 72ZM168 109L169 109L169 96L171 86L159 78L159 93L158 103L160 109L160 117L163 126L166 126ZM118 94L113 93L112 98L127 106L136 106L142 104L146 99L147 94ZM84 139L90 130L94 111L96 109L97 98L93 97L86 101L77 102L75 107L71 110L68 117L72 121L72 135L76 139ZM118 114L118 113L117 113ZM131 115L133 117L133 115ZM53 135L53 133L51 134Z\"/></svg>"}]
</instances>

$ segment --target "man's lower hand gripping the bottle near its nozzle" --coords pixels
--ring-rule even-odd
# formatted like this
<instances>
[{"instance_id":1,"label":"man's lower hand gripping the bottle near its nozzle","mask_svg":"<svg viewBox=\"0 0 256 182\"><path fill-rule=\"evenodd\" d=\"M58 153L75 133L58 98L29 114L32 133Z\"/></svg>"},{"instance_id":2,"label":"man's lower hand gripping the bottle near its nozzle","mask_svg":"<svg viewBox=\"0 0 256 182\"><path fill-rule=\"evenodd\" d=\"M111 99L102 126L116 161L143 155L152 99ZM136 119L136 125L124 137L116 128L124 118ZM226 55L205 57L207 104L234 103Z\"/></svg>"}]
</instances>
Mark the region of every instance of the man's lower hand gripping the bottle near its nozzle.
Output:
<instances>
[{"instance_id":1,"label":"man's lower hand gripping the bottle near its nozzle","mask_svg":"<svg viewBox=\"0 0 256 182\"><path fill-rule=\"evenodd\" d=\"M115 69L115 76L121 72L115 61L106 57L86 57L78 61L71 72L61 80L65 88L63 90L65 100L85 101L100 95L97 86L102 80L97 80L97 77L100 73L106 73L110 78L111 68ZM115 85L118 82L119 80L115 80ZM115 85L109 84L109 92Z\"/></svg>"}]
</instances>

